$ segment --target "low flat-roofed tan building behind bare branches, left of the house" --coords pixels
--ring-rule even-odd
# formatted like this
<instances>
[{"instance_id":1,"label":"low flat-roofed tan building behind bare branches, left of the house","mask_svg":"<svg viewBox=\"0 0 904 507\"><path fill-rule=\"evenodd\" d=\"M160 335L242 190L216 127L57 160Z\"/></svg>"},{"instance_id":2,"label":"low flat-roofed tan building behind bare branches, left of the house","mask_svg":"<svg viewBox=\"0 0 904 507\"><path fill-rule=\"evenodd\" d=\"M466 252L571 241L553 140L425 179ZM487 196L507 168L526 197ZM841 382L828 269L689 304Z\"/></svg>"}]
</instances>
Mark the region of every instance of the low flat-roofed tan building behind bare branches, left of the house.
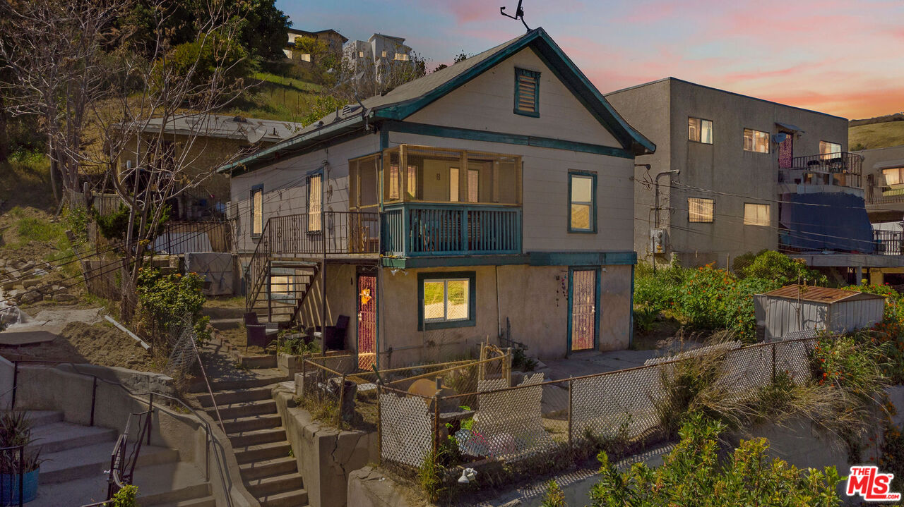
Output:
<instances>
[{"instance_id":1,"label":"low flat-roofed tan building behind bare branches, left of the house","mask_svg":"<svg viewBox=\"0 0 904 507\"><path fill-rule=\"evenodd\" d=\"M120 156L119 175L137 165L138 149L142 157L146 156L148 143L161 135L162 124L162 118L153 118L142 125L142 142L138 144L133 139L127 143L136 149ZM159 163L165 166L178 160L179 166L184 167L184 180L201 183L171 203L172 217L185 220L222 214L230 200L230 181L214 170L241 153L278 143L300 129L301 124L242 116L175 116L163 127L164 160Z\"/></svg>"}]
</instances>

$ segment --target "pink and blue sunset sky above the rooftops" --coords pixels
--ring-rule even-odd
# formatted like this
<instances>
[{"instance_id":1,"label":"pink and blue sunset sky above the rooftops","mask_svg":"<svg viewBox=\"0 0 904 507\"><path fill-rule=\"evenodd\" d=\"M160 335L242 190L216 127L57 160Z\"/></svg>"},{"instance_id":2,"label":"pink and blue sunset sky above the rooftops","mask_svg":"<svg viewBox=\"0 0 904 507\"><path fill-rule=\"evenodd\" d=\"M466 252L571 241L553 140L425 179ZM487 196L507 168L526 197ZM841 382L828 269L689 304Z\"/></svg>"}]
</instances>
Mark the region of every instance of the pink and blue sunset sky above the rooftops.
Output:
<instances>
[{"instance_id":1,"label":"pink and blue sunset sky above the rooftops","mask_svg":"<svg viewBox=\"0 0 904 507\"><path fill-rule=\"evenodd\" d=\"M278 0L300 30L404 37L428 69L524 32L517 0ZM847 118L904 111L904 0L524 0L603 93L673 76Z\"/></svg>"}]
</instances>

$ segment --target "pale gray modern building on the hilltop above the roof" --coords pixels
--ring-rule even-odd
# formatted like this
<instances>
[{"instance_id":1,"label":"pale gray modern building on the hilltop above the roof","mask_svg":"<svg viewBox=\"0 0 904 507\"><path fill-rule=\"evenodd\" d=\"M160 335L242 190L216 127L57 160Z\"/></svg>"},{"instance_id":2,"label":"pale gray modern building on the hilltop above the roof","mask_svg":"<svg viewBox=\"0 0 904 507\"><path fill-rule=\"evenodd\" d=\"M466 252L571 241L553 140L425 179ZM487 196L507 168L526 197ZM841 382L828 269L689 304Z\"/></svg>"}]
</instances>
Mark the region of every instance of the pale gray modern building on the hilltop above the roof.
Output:
<instances>
[{"instance_id":1,"label":"pale gray modern building on the hilltop above the roof","mask_svg":"<svg viewBox=\"0 0 904 507\"><path fill-rule=\"evenodd\" d=\"M367 41L349 41L343 51L344 60L351 66L356 80L372 75L377 83L382 83L393 69L414 65L411 48L405 45L405 39L382 33L374 33Z\"/></svg>"}]
</instances>

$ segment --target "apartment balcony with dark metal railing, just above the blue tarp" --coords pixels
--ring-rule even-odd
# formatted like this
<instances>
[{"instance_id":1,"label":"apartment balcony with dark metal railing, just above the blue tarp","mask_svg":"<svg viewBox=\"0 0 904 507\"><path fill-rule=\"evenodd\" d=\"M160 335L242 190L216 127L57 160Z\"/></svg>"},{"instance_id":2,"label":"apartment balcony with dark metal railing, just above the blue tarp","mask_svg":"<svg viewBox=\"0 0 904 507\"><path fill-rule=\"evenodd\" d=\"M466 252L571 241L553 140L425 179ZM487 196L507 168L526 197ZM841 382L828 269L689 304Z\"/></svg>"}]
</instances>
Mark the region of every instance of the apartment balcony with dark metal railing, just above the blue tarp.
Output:
<instances>
[{"instance_id":1,"label":"apartment balcony with dark metal railing, just above the blue tarp","mask_svg":"<svg viewBox=\"0 0 904 507\"><path fill-rule=\"evenodd\" d=\"M862 161L857 153L837 152L821 155L806 155L779 161L778 183L825 191L826 187L836 187L836 191L856 189L862 195ZM818 188L816 188L818 187Z\"/></svg>"}]
</instances>

